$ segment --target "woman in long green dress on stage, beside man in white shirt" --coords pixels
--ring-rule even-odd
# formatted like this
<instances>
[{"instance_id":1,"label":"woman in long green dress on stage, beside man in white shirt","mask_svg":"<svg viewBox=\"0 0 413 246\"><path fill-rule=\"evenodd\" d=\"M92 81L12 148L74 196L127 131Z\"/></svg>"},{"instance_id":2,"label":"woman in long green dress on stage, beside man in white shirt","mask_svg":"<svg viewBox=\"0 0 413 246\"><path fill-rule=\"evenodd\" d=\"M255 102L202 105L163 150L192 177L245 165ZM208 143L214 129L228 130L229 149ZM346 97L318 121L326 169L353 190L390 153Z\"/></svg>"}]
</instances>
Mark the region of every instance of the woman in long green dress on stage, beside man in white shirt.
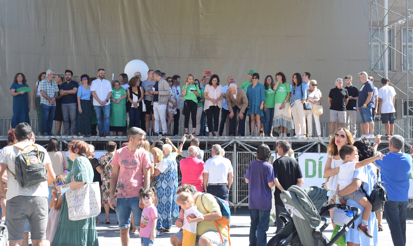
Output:
<instances>
[{"instance_id":1,"label":"woman in long green dress on stage, beside man in white shirt","mask_svg":"<svg viewBox=\"0 0 413 246\"><path fill-rule=\"evenodd\" d=\"M126 125L126 91L118 80L113 82L110 97L110 131L112 136L121 136Z\"/></svg>"}]
</instances>

